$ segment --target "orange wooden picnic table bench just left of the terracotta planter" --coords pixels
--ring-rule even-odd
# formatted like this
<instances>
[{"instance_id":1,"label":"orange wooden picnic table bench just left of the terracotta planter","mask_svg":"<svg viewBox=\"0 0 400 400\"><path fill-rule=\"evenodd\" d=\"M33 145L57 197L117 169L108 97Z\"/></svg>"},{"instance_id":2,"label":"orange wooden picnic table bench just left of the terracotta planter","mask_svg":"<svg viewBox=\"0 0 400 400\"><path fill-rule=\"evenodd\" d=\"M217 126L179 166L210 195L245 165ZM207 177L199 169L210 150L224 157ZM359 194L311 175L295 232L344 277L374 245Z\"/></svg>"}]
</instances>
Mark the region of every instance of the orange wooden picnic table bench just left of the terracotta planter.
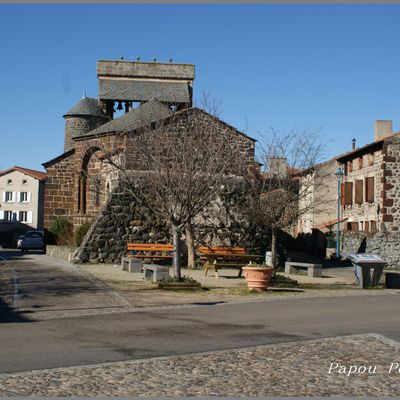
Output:
<instances>
[{"instance_id":1,"label":"orange wooden picnic table bench just left of the terracotta planter","mask_svg":"<svg viewBox=\"0 0 400 400\"><path fill-rule=\"evenodd\" d=\"M251 261L262 256L246 254L244 247L222 247L222 246L200 246L197 249L199 264L205 269L205 276L208 270L214 269L215 277L218 278L218 270L221 268L239 269L238 277L242 276L242 268Z\"/></svg>"}]
</instances>

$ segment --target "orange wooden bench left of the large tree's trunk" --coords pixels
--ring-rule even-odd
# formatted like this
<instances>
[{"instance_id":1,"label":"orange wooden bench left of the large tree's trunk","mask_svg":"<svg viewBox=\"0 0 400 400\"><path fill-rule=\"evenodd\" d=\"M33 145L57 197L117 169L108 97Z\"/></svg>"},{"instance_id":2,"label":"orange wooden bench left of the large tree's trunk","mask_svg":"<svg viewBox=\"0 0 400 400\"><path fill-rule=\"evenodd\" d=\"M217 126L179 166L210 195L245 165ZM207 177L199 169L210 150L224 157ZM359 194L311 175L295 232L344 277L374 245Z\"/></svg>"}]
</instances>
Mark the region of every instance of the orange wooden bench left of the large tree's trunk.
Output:
<instances>
[{"instance_id":1,"label":"orange wooden bench left of the large tree's trunk","mask_svg":"<svg viewBox=\"0 0 400 400\"><path fill-rule=\"evenodd\" d=\"M128 243L126 245L128 254L121 258L122 270L129 272L141 272L142 265L138 259L172 260L174 246L172 244L160 243Z\"/></svg>"}]
</instances>

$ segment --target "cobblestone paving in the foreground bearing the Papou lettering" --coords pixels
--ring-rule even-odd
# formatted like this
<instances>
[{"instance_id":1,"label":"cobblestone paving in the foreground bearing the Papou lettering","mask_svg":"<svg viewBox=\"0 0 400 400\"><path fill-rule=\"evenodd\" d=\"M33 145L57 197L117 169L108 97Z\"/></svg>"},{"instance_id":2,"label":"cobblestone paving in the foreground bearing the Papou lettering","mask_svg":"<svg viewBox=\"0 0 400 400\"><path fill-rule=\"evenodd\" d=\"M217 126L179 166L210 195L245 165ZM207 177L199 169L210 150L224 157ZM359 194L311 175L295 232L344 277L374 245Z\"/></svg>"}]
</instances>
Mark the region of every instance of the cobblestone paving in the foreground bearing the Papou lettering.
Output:
<instances>
[{"instance_id":1,"label":"cobblestone paving in the foreground bearing the Papou lettering","mask_svg":"<svg viewBox=\"0 0 400 400\"><path fill-rule=\"evenodd\" d=\"M399 370L389 373L396 362L398 344L378 335L347 336L3 374L0 395L399 396ZM331 363L346 366L346 373L329 373ZM367 372L349 375L351 365Z\"/></svg>"}]
</instances>

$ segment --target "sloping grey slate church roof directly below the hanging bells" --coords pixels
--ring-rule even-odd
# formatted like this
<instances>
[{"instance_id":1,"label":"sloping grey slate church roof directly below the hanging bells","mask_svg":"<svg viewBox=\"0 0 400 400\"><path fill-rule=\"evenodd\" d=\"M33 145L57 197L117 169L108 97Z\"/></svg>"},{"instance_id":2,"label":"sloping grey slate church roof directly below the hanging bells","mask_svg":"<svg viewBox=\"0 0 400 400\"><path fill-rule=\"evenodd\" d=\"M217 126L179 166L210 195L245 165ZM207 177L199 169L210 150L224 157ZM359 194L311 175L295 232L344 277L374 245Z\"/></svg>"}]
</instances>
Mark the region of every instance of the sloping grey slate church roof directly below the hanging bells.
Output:
<instances>
[{"instance_id":1,"label":"sloping grey slate church roof directly below the hanging bells","mask_svg":"<svg viewBox=\"0 0 400 400\"><path fill-rule=\"evenodd\" d=\"M142 104L140 107L130 110L122 117L107 122L85 135L77 136L74 139L80 140L81 138L88 136L102 135L111 132L123 133L133 131L142 126L148 125L153 121L158 121L171 115L173 115L173 112L168 106L152 99Z\"/></svg>"}]
</instances>

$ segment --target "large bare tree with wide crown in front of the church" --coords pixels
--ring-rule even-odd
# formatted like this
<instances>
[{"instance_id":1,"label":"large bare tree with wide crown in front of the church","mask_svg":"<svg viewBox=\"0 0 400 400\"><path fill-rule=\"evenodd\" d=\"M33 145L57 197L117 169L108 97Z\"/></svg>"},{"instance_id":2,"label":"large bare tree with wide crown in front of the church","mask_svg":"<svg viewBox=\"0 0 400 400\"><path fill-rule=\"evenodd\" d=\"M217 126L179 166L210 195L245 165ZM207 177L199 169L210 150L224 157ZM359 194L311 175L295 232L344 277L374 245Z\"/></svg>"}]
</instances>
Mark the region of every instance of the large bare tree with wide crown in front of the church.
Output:
<instances>
[{"instance_id":1,"label":"large bare tree with wide crown in front of the church","mask_svg":"<svg viewBox=\"0 0 400 400\"><path fill-rule=\"evenodd\" d=\"M105 160L118 171L119 187L169 224L177 280L182 233L225 180L245 173L248 151L232 131L210 114L189 109L129 133L122 163Z\"/></svg>"}]
</instances>

